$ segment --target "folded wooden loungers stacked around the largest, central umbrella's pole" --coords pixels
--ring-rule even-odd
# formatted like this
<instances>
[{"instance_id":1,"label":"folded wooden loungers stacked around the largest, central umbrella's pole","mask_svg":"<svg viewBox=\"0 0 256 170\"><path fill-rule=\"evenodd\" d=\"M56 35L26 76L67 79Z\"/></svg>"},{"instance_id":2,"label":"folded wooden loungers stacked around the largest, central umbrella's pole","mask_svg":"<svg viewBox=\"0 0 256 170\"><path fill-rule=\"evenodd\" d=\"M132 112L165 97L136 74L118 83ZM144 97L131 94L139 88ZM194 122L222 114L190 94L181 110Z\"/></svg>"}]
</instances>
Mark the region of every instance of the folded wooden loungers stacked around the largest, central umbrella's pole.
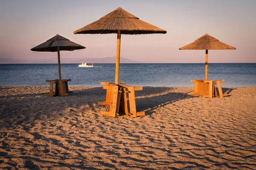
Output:
<instances>
[{"instance_id":1,"label":"folded wooden loungers stacked around the largest, central umbrella's pole","mask_svg":"<svg viewBox=\"0 0 256 170\"><path fill-rule=\"evenodd\" d=\"M135 104L135 91L142 90L142 87L134 87L120 83L116 85L113 82L101 82L103 88L107 90L105 102L99 102L99 105L105 105L107 111L101 114L115 117L124 112L127 116L137 117L145 115L145 112L137 112Z\"/></svg>"}]
</instances>

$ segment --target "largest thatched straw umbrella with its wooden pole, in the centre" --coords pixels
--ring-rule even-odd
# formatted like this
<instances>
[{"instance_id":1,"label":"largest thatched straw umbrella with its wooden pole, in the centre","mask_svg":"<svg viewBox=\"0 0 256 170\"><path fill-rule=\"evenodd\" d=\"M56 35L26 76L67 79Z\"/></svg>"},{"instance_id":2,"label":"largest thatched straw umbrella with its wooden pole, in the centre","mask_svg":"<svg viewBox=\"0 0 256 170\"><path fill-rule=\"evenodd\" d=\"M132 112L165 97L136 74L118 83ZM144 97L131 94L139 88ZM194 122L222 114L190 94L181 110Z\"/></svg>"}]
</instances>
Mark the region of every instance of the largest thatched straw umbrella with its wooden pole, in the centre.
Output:
<instances>
[{"instance_id":1,"label":"largest thatched straw umbrella with its wooden pole, in the centre","mask_svg":"<svg viewBox=\"0 0 256 170\"><path fill-rule=\"evenodd\" d=\"M105 15L99 20L74 31L74 34L117 34L116 47L116 77L115 84L119 84L119 59L121 34L166 34L166 31L139 20L122 8Z\"/></svg>"}]
</instances>

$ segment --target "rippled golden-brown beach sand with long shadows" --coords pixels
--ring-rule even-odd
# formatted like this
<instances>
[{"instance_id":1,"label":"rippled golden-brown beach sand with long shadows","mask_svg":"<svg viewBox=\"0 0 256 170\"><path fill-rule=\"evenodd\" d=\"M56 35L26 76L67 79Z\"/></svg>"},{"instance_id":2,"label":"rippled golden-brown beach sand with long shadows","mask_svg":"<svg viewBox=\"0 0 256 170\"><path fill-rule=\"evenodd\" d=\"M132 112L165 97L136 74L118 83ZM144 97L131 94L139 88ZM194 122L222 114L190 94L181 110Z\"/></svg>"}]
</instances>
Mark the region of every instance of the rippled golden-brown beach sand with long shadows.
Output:
<instances>
[{"instance_id":1,"label":"rippled golden-brown beach sand with long shadows","mask_svg":"<svg viewBox=\"0 0 256 170\"><path fill-rule=\"evenodd\" d=\"M137 118L101 115L102 87L48 90L0 87L0 169L256 169L256 87L222 99L144 87Z\"/></svg>"}]
</instances>

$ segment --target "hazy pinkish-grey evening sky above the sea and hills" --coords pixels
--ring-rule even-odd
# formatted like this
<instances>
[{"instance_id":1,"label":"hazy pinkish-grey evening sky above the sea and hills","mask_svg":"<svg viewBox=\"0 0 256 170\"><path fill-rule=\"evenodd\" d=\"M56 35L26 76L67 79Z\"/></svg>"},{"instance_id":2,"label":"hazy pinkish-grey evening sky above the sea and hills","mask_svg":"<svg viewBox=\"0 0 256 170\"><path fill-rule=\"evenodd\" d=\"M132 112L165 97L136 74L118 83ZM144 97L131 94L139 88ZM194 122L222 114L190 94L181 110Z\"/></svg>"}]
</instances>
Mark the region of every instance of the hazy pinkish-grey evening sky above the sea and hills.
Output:
<instances>
[{"instance_id":1,"label":"hazy pinkish-grey evening sky above the sea and hills","mask_svg":"<svg viewBox=\"0 0 256 170\"><path fill-rule=\"evenodd\" d=\"M30 49L59 34L86 47L61 58L116 56L116 34L73 34L116 8L166 34L121 35L120 57L138 62L204 63L205 51L179 50L204 34L236 47L209 50L208 62L256 62L256 0L0 0L0 57L49 59Z\"/></svg>"}]
</instances>

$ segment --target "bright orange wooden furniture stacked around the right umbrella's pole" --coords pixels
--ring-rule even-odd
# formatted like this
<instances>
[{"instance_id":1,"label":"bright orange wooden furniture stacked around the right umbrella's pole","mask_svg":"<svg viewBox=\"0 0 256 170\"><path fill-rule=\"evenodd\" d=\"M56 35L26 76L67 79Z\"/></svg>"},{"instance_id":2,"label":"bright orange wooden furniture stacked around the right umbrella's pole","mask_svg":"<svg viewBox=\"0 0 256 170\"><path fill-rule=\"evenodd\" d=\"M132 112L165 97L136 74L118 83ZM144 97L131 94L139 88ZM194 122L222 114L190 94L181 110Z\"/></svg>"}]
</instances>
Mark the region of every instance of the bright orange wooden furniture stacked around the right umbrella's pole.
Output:
<instances>
[{"instance_id":1,"label":"bright orange wooden furniture stacked around the right umbrella's pole","mask_svg":"<svg viewBox=\"0 0 256 170\"><path fill-rule=\"evenodd\" d=\"M195 82L195 92L192 94L204 97L224 97L227 94L223 94L221 88L221 82L223 80L191 80L191 82Z\"/></svg>"}]
</instances>

